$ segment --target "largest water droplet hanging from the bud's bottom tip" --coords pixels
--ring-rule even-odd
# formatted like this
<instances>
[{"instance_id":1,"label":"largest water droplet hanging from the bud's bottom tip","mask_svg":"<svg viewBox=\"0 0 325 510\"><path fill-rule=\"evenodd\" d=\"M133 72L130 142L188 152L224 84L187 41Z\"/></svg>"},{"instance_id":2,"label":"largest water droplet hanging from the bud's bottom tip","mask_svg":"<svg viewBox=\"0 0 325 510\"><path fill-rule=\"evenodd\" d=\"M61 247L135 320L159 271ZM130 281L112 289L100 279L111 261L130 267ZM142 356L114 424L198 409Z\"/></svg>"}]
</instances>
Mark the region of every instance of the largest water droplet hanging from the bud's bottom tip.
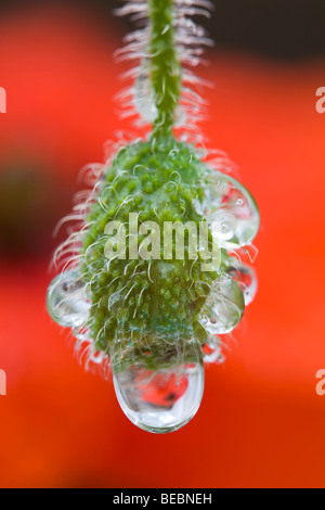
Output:
<instances>
[{"instance_id":1,"label":"largest water droplet hanging from the bud's bottom tip","mask_svg":"<svg viewBox=\"0 0 325 510\"><path fill-rule=\"evenodd\" d=\"M161 337L159 343L151 349L148 342L144 350L136 343L116 341L110 357L122 411L140 429L165 434L184 426L199 408L204 366L196 342L172 345Z\"/></svg>"}]
</instances>

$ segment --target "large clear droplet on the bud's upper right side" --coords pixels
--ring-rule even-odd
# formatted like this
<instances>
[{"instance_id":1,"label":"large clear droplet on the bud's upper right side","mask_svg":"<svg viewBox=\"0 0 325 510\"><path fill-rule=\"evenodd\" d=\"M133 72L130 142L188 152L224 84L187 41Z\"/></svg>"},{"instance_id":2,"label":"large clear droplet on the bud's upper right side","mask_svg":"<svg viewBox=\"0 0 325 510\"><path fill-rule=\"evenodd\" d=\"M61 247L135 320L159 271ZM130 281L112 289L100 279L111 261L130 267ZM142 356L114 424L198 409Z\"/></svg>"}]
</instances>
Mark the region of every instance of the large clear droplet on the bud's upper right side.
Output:
<instances>
[{"instance_id":1,"label":"large clear droplet on the bud's upper right side","mask_svg":"<svg viewBox=\"0 0 325 510\"><path fill-rule=\"evenodd\" d=\"M205 216L219 245L235 248L251 243L259 229L260 215L249 191L220 171L209 174L204 190Z\"/></svg>"}]
</instances>

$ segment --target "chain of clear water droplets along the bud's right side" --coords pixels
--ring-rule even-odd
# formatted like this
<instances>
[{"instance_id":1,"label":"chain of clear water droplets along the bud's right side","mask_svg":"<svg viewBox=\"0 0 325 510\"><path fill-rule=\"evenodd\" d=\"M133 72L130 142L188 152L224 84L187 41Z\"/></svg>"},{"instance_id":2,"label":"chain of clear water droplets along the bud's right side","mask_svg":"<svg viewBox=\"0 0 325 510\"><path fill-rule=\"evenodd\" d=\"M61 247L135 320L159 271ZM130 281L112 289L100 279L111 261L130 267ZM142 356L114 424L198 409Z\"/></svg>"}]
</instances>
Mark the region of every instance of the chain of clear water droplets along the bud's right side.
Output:
<instances>
[{"instance_id":1,"label":"chain of clear water droplets along the bud's right side","mask_svg":"<svg viewBox=\"0 0 325 510\"><path fill-rule=\"evenodd\" d=\"M259 229L260 216L249 191L229 175L208 173L203 190L203 199L196 201L196 208L207 219L224 255L223 270L212 283L198 320L209 334L226 334L239 323L245 306L257 293L256 273L242 263L237 251L251 244Z\"/></svg>"}]
</instances>

